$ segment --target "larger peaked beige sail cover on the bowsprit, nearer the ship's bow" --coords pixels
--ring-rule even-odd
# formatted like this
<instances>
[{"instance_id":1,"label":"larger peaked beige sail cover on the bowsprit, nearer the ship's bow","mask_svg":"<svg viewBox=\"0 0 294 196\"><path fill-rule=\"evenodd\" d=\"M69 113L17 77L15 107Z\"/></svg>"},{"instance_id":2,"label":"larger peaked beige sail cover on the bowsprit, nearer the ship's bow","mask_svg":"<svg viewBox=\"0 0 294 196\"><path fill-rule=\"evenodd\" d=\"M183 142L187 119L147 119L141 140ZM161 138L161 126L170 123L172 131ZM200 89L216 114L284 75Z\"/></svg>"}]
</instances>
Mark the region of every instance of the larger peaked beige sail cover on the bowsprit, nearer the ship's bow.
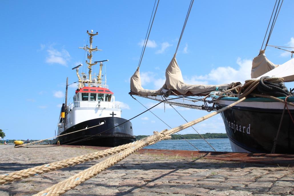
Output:
<instances>
[{"instance_id":1,"label":"larger peaked beige sail cover on the bowsprit, nearer the ship's bow","mask_svg":"<svg viewBox=\"0 0 294 196\"><path fill-rule=\"evenodd\" d=\"M220 89L228 89L231 84L220 84L220 85L205 85L205 84L186 84L183 81L182 72L178 66L176 56L173 57L170 64L166 68L166 87L168 89L177 90L181 94L191 92L192 94L209 94L215 90L216 87Z\"/></svg>"}]
</instances>

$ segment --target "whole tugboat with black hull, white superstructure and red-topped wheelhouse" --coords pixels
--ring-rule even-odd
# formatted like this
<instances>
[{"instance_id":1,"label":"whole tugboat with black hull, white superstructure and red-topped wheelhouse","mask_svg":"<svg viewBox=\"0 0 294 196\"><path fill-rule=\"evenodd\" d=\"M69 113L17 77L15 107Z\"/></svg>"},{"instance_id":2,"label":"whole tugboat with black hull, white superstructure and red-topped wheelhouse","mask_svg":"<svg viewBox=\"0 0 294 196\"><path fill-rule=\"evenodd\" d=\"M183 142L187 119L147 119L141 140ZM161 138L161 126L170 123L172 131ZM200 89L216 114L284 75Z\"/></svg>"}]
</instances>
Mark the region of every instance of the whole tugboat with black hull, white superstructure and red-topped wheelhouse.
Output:
<instances>
[{"instance_id":1,"label":"whole tugboat with black hull, white superstructure and red-topped wheelhouse","mask_svg":"<svg viewBox=\"0 0 294 196\"><path fill-rule=\"evenodd\" d=\"M87 45L79 48L87 52L88 75L79 73L82 64L72 68L76 69L78 88L73 103L67 105L68 79L66 80L66 101L61 108L58 134L53 143L115 147L136 141L132 123L121 118L120 103L115 102L113 92L106 85L106 79L102 81L103 62L108 60L92 62L93 52L101 51L97 46L92 48L93 36L98 35L98 32L93 34L91 30L87 34L90 47ZM98 63L99 74L92 74L92 67Z\"/></svg>"}]
</instances>

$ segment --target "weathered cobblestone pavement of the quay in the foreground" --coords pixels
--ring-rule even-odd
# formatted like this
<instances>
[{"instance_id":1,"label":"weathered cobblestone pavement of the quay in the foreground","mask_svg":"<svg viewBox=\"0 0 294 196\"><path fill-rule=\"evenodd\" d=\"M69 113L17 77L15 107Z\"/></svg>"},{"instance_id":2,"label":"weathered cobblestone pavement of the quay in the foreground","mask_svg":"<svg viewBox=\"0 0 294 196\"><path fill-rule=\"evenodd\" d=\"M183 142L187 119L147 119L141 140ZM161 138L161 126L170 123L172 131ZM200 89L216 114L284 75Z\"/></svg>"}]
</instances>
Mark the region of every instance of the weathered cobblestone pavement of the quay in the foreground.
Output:
<instances>
[{"instance_id":1,"label":"weathered cobblestone pavement of the quay in the foreground","mask_svg":"<svg viewBox=\"0 0 294 196\"><path fill-rule=\"evenodd\" d=\"M0 173L22 170L96 150L83 147L0 149ZM0 196L33 195L100 160L0 185ZM133 154L64 195L292 195L294 167Z\"/></svg>"}]
</instances>

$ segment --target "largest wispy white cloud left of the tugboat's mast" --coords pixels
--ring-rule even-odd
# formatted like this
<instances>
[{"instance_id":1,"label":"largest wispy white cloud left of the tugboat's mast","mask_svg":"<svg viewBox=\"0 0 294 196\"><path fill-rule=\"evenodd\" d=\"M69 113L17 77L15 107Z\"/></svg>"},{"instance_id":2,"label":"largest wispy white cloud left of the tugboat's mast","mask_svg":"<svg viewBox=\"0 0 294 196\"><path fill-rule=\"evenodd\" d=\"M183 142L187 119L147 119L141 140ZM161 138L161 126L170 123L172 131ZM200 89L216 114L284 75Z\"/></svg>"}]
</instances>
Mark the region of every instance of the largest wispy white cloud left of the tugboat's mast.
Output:
<instances>
[{"instance_id":1,"label":"largest wispy white cloud left of the tugboat's mast","mask_svg":"<svg viewBox=\"0 0 294 196\"><path fill-rule=\"evenodd\" d=\"M57 63L67 67L67 62L70 59L69 52L67 52L65 49L61 49L61 51L58 51L54 49L53 46L50 46L47 52L48 57L46 58L46 63Z\"/></svg>"}]
</instances>

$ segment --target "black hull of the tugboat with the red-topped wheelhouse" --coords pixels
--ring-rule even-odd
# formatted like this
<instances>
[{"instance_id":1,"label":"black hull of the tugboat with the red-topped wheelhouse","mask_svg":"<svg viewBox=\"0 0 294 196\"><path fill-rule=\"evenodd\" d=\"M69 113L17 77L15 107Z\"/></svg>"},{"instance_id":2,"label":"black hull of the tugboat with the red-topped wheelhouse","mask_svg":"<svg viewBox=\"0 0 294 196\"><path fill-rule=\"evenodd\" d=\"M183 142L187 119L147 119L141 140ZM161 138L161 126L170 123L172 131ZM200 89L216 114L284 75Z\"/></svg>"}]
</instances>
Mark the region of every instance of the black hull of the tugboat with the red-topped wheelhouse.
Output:
<instances>
[{"instance_id":1,"label":"black hull of the tugboat with the red-topped wheelhouse","mask_svg":"<svg viewBox=\"0 0 294 196\"><path fill-rule=\"evenodd\" d=\"M60 135L85 129L86 127L88 129L57 137L53 143L57 144L59 141L59 144L68 145L115 147L134 142L136 137L133 136L132 123L126 121L126 119L118 117L105 117L84 121L66 129ZM98 124L101 125L93 127ZM117 125L119 126L115 127Z\"/></svg>"}]
</instances>

